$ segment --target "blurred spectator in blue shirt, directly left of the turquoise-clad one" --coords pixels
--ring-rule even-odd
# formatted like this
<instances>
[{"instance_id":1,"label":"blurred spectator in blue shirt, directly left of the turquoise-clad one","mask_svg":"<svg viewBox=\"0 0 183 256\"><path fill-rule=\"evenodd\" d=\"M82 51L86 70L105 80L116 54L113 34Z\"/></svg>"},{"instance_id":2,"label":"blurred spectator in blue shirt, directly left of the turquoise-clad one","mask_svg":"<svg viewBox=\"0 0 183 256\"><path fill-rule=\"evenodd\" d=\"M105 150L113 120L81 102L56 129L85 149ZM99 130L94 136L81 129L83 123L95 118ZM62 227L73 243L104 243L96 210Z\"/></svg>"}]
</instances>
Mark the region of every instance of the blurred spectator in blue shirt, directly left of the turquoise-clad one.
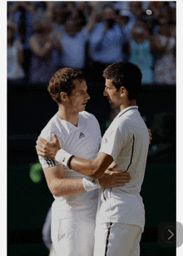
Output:
<instances>
[{"instance_id":1,"label":"blurred spectator in blue shirt, directly left of the turquoise-clad one","mask_svg":"<svg viewBox=\"0 0 183 256\"><path fill-rule=\"evenodd\" d=\"M123 45L125 34L116 23L116 11L104 7L102 21L96 23L89 39L92 78L101 79L103 70L111 63L124 60Z\"/></svg>"}]
</instances>

